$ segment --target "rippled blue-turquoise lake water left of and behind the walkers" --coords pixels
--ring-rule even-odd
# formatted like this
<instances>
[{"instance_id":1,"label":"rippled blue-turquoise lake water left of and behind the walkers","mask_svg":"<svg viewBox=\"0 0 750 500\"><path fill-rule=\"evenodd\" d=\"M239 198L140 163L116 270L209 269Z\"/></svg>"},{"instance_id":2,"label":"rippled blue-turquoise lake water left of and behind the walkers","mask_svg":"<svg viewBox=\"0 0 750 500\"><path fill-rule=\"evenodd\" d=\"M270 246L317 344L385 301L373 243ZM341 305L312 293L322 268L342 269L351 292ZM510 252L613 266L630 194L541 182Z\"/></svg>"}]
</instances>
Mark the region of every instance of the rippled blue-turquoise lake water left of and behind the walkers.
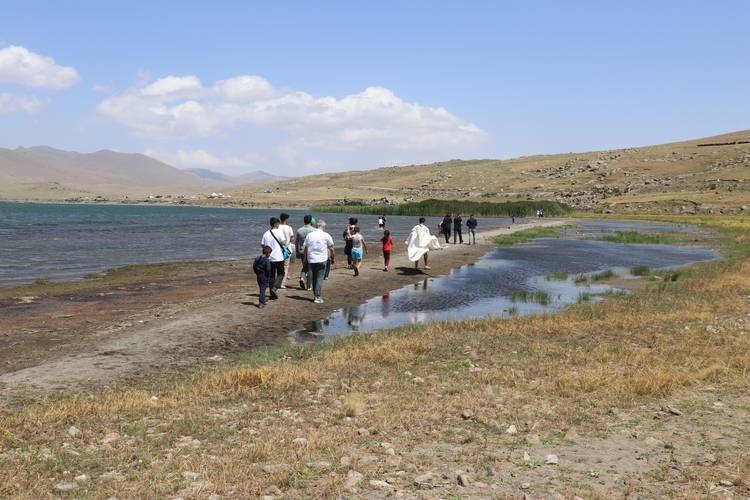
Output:
<instances>
[{"instance_id":1,"label":"rippled blue-turquoise lake water left of and behind the walkers","mask_svg":"<svg viewBox=\"0 0 750 500\"><path fill-rule=\"evenodd\" d=\"M0 202L0 286L39 278L67 280L127 264L242 259L256 255L268 219L279 210L165 205L81 205ZM305 212L287 210L291 225ZM348 215L313 214L341 239ZM365 238L382 234L377 216L359 215ZM438 218L430 220L437 226ZM497 224L502 219L484 219ZM388 217L405 239L415 217Z\"/></svg>"}]
</instances>

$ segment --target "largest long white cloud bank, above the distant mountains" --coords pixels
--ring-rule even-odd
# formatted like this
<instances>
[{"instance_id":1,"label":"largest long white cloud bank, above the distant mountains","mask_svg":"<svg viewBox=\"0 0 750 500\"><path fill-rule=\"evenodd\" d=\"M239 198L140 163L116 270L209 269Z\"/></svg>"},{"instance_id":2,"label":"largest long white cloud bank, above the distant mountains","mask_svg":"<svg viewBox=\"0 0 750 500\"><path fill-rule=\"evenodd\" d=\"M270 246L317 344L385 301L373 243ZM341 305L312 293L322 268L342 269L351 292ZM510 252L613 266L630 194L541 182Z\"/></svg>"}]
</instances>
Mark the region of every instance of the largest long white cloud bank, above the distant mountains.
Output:
<instances>
[{"instance_id":1,"label":"largest long white cloud bank, above the distant mountains","mask_svg":"<svg viewBox=\"0 0 750 500\"><path fill-rule=\"evenodd\" d=\"M247 124L282 131L308 148L464 148L485 133L442 107L407 102L383 87L342 98L274 89L242 75L203 87L195 76L168 76L104 99L101 114L145 138L191 138Z\"/></svg>"}]
</instances>

